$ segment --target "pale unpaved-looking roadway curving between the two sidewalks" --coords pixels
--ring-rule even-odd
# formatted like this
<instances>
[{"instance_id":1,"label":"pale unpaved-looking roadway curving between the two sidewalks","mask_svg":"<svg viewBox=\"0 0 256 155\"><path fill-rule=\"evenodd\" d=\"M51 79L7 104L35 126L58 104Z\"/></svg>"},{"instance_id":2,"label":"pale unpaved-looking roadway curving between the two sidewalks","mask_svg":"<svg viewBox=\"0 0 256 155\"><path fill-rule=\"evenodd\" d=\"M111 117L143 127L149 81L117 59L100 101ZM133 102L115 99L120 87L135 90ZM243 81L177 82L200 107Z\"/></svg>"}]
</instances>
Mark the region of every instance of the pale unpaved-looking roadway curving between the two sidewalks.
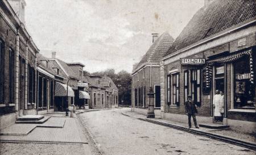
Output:
<instances>
[{"instance_id":1,"label":"pale unpaved-looking roadway curving between the two sidewalks","mask_svg":"<svg viewBox=\"0 0 256 155\"><path fill-rule=\"evenodd\" d=\"M255 154L254 150L122 115L122 110L80 114L102 154Z\"/></svg>"}]
</instances>

